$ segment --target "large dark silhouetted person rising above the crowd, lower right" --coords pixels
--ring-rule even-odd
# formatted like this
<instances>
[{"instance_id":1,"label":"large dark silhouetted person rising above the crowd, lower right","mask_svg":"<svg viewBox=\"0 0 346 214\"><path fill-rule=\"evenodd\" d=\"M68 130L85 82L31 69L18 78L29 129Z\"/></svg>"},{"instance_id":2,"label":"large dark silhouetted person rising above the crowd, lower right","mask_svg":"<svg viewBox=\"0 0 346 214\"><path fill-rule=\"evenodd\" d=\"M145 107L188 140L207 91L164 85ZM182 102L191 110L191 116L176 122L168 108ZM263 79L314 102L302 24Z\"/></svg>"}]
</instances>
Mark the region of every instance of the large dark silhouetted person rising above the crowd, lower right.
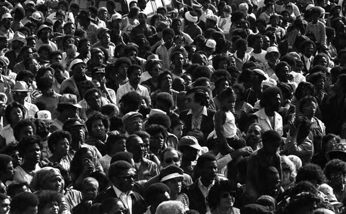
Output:
<instances>
[{"instance_id":1,"label":"large dark silhouetted person rising above the crowd, lower right","mask_svg":"<svg viewBox=\"0 0 346 214\"><path fill-rule=\"evenodd\" d=\"M266 130L262 135L263 147L259 150L255 150L248 159L248 173L246 180L246 195L248 195L248 203L255 202L260 195L263 195L264 191L268 191L263 188L266 180L262 175L264 171L278 174L279 179L282 178L282 166L280 155L277 153L277 148L282 144L281 136L275 130ZM268 169L268 167L273 168ZM269 176L269 175L268 175Z\"/></svg>"}]
</instances>

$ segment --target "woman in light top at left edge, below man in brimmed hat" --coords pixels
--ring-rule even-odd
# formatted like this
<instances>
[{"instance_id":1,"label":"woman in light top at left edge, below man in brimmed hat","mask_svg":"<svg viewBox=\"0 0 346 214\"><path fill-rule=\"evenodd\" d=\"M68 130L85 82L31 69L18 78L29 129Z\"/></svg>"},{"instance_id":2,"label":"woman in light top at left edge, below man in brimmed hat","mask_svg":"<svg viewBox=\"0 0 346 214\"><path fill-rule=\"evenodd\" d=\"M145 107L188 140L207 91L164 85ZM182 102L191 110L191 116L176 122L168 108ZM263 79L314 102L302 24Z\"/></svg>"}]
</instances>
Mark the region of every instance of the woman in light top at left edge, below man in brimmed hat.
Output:
<instances>
[{"instance_id":1,"label":"woman in light top at left edge, below man in brimmed hat","mask_svg":"<svg viewBox=\"0 0 346 214\"><path fill-rule=\"evenodd\" d=\"M13 135L13 128L18 124L18 122L24 118L26 115L26 108L18 102L12 102L5 109L5 119L8 125L3 127L0 131L0 150L3 150L15 142L15 135Z\"/></svg>"}]
</instances>

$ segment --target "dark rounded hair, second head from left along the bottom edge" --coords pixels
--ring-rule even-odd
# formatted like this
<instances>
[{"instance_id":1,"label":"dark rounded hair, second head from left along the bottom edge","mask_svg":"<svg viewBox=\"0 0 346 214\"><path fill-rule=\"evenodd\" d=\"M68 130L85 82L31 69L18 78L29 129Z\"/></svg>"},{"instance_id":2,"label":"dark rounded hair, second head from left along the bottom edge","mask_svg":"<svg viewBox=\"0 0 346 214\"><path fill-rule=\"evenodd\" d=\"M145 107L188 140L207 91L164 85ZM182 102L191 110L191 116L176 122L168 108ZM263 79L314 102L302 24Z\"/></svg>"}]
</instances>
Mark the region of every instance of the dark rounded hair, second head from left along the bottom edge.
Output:
<instances>
[{"instance_id":1,"label":"dark rounded hair, second head from left along the bottom edge","mask_svg":"<svg viewBox=\"0 0 346 214\"><path fill-rule=\"evenodd\" d=\"M34 193L24 192L13 197L10 204L11 213L24 213L29 207L39 205L39 198Z\"/></svg>"}]
</instances>

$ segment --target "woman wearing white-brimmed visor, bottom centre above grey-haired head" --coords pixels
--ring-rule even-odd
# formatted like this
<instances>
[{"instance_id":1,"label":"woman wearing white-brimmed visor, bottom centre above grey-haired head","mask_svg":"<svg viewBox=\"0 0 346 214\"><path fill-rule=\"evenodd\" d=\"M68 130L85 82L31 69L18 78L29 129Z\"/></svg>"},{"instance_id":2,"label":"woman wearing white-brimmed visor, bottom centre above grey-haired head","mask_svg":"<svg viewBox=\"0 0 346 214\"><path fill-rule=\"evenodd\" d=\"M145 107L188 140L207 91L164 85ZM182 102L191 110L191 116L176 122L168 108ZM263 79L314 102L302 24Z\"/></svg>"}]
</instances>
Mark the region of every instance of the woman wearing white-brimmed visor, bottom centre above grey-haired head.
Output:
<instances>
[{"instance_id":1,"label":"woman wearing white-brimmed visor, bottom centre above grey-haired head","mask_svg":"<svg viewBox=\"0 0 346 214\"><path fill-rule=\"evenodd\" d=\"M184 204L185 211L189 210L189 198L185 193L181 193L184 174L183 170L176 165L163 168L159 175L160 182L170 188L170 200L176 200Z\"/></svg>"}]
</instances>

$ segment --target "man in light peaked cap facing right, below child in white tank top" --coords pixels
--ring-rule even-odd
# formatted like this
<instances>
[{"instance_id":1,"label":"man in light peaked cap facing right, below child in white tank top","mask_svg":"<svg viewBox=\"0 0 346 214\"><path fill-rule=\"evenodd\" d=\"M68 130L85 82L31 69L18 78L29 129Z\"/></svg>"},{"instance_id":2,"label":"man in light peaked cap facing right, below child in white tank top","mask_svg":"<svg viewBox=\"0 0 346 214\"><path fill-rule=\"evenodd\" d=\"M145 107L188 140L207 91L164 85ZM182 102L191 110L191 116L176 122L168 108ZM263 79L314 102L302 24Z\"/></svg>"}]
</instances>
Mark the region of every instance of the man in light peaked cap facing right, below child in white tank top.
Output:
<instances>
[{"instance_id":1,"label":"man in light peaked cap facing right, below child in white tank top","mask_svg":"<svg viewBox=\"0 0 346 214\"><path fill-rule=\"evenodd\" d=\"M203 148L199 146L196 137L185 136L179 140L179 150L183 153L181 168L188 175L192 175L194 166L192 165L197 159L197 155Z\"/></svg>"}]
</instances>

